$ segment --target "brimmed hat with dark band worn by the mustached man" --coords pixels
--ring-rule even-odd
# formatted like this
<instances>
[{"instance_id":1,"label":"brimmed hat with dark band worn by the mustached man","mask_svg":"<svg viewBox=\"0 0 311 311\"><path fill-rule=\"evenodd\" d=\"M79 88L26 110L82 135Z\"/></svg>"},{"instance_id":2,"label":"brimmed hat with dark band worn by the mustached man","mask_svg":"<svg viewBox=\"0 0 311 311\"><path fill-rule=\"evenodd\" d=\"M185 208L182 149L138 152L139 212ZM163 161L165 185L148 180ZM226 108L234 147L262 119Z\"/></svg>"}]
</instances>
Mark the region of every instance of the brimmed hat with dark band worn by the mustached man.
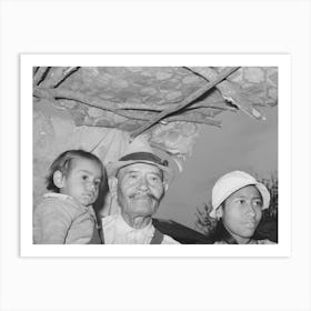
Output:
<instances>
[{"instance_id":1,"label":"brimmed hat with dark band worn by the mustached man","mask_svg":"<svg viewBox=\"0 0 311 311\"><path fill-rule=\"evenodd\" d=\"M120 169L134 163L147 163L158 167L163 171L164 180L168 182L173 178L173 170L169 168L169 162L158 157L147 140L139 138L129 143L118 161L107 163L107 174L109 178L117 177Z\"/></svg>"}]
</instances>

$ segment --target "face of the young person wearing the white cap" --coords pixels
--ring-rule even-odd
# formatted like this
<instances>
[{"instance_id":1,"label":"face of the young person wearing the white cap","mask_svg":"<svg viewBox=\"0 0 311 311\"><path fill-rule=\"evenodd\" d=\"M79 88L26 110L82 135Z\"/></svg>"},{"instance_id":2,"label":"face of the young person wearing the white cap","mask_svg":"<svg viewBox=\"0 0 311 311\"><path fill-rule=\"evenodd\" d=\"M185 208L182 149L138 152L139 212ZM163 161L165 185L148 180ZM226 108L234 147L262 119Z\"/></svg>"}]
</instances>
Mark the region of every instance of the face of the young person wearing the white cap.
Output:
<instances>
[{"instance_id":1,"label":"face of the young person wearing the white cap","mask_svg":"<svg viewBox=\"0 0 311 311\"><path fill-rule=\"evenodd\" d=\"M220 208L225 229L238 243L248 243L262 217L262 198L254 185L232 193Z\"/></svg>"}]
</instances>

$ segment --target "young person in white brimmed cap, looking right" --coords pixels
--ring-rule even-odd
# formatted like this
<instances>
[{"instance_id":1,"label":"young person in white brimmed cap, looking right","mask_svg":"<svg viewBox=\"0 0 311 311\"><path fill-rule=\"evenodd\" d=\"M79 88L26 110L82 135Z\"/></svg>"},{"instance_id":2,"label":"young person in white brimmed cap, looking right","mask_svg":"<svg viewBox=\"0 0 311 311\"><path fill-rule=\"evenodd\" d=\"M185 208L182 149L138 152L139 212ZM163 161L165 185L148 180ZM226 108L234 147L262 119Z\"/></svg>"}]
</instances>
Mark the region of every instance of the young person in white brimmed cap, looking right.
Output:
<instances>
[{"instance_id":1,"label":"young person in white brimmed cap, looking right","mask_svg":"<svg viewBox=\"0 0 311 311\"><path fill-rule=\"evenodd\" d=\"M215 244L271 244L254 239L262 210L268 209L270 193L252 175L233 171L221 177L212 189L210 217L218 219Z\"/></svg>"}]
</instances>

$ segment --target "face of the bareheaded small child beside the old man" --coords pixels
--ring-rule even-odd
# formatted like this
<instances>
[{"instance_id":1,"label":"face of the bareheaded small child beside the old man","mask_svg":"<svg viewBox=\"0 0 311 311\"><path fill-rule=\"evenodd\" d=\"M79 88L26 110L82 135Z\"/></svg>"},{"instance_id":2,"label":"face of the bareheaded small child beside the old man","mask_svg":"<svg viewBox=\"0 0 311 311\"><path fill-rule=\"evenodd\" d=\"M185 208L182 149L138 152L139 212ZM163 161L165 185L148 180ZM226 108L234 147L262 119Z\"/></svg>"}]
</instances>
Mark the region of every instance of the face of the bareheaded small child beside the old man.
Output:
<instances>
[{"instance_id":1,"label":"face of the bareheaded small child beside the old man","mask_svg":"<svg viewBox=\"0 0 311 311\"><path fill-rule=\"evenodd\" d=\"M88 207L97 200L101 181L101 168L96 161L73 159L69 174L62 177L60 193L68 194Z\"/></svg>"}]
</instances>

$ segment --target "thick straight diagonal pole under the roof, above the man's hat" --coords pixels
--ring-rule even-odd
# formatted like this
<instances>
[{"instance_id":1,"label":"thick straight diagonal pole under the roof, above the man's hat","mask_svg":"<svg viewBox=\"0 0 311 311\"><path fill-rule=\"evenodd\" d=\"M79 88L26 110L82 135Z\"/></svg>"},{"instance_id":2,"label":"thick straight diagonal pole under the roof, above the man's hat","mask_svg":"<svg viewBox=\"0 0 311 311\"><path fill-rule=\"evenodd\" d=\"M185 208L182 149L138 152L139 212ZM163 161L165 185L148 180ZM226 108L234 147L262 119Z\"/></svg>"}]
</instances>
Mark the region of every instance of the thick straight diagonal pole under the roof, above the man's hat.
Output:
<instances>
[{"instance_id":1,"label":"thick straight diagonal pole under the roof, above the man's hat","mask_svg":"<svg viewBox=\"0 0 311 311\"><path fill-rule=\"evenodd\" d=\"M153 118L151 121L149 121L147 124L144 124L143 127L141 127L140 129L133 131L131 133L131 138L136 138L137 136L141 134L142 132L144 132L146 130L148 130L149 128L151 128L153 124L158 123L161 119L175 113L178 111L180 111L181 109L185 108L187 106L191 104L195 99L200 98L201 96L203 96L205 92L208 92L209 90L211 90L214 86L217 86L220 81L222 81L223 79L225 79L228 76L230 76L232 72L237 71L239 69L239 67L232 67L232 68L227 68L224 69L217 79L214 79L213 81L210 81L207 86L203 86L202 88L200 88L199 90L197 90L195 92L193 92L192 94L190 94L187 99L184 99L181 104L178 108L173 108L173 109L168 109L162 111L161 113L159 113L156 118Z\"/></svg>"}]
</instances>

